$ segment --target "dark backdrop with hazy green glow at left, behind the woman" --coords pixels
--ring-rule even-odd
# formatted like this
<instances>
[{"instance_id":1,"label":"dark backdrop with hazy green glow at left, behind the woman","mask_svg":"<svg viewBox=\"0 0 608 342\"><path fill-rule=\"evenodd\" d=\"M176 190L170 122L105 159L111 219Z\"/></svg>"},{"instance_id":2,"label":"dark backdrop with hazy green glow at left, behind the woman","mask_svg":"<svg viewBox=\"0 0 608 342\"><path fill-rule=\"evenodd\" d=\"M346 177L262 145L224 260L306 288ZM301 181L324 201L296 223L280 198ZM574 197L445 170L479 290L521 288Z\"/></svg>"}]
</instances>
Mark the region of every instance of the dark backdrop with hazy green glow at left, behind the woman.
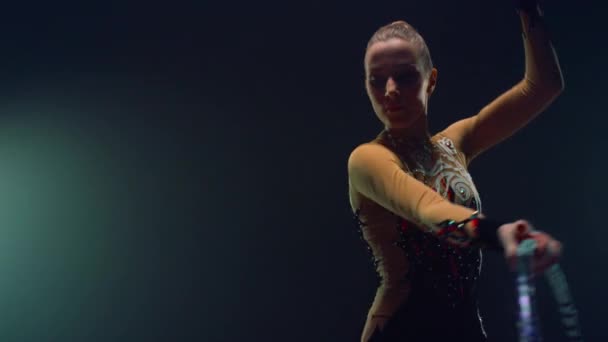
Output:
<instances>
[{"instance_id":1,"label":"dark backdrop with hazy green glow at left, behind the woman","mask_svg":"<svg viewBox=\"0 0 608 342\"><path fill-rule=\"evenodd\" d=\"M486 214L564 242L583 332L602 341L608 51L594 6L545 5L566 91L471 172ZM439 69L433 131L523 75L508 0L5 5L0 339L357 341L376 278L346 160L381 129L363 54L397 19ZM482 286L488 333L515 341L500 256L486 253ZM546 340L562 340L542 282L539 300Z\"/></svg>"}]
</instances>

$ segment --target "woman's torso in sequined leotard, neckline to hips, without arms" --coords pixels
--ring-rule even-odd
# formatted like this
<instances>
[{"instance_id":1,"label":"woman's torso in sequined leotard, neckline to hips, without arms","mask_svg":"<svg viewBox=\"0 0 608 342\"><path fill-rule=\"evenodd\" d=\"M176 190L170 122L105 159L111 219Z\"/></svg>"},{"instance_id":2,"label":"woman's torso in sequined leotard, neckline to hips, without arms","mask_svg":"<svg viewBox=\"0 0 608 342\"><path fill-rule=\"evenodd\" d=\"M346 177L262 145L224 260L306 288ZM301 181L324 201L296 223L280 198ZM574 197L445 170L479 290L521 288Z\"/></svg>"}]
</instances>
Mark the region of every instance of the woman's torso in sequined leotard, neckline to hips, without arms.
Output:
<instances>
[{"instance_id":1,"label":"woman's torso in sequined leotard, neckline to hips, without arms","mask_svg":"<svg viewBox=\"0 0 608 342\"><path fill-rule=\"evenodd\" d=\"M481 211L464 155L447 137L438 134L426 146L411 145L383 132L372 143L391 150L402 161L404 171L451 202ZM419 224L397 217L353 189L350 197L380 278L370 317L390 317L412 293L451 307L474 301L481 267L478 248L442 242Z\"/></svg>"}]
</instances>

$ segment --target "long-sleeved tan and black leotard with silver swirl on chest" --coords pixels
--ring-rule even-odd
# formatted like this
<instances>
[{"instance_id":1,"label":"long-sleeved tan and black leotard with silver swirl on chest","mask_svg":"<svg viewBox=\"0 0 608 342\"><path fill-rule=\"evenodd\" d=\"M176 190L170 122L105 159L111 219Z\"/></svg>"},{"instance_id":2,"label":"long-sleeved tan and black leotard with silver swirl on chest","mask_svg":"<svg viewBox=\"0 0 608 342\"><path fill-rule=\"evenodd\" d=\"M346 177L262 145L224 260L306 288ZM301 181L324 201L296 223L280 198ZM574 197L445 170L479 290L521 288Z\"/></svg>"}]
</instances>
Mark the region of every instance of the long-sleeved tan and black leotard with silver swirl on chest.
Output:
<instances>
[{"instance_id":1,"label":"long-sleeved tan and black leotard with silver swirl on chest","mask_svg":"<svg viewBox=\"0 0 608 342\"><path fill-rule=\"evenodd\" d=\"M526 72L521 82L430 141L383 131L351 153L350 203L380 278L362 341L371 341L378 325L385 324L387 341L392 340L388 334L408 336L403 334L408 329L431 334L433 327L446 328L448 317L454 323L450 329L461 329L452 333L472 331L470 340L483 340L475 304L481 251L438 239L437 224L481 210L468 164L532 120L563 87L544 29L528 30L525 13L522 23ZM403 321L391 325L397 317Z\"/></svg>"}]
</instances>

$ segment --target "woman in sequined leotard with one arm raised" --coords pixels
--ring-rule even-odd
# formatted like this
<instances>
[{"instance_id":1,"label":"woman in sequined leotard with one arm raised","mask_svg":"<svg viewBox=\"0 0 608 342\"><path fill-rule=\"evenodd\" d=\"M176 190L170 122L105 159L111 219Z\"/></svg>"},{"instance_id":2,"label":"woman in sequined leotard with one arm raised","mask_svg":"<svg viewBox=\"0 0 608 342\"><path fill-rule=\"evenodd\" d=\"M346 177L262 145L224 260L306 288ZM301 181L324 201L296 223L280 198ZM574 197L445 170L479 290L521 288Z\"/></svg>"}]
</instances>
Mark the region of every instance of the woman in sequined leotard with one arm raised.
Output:
<instances>
[{"instance_id":1,"label":"woman in sequined leotard with one arm raised","mask_svg":"<svg viewBox=\"0 0 608 342\"><path fill-rule=\"evenodd\" d=\"M523 79L434 135L426 114L437 69L423 38L399 21L368 43L366 89L385 128L348 160L351 207L381 279L361 341L485 341L475 289L481 249L501 251L512 264L518 243L534 238L537 271L560 254L560 243L527 221L484 217L467 172L475 157L525 126L563 89L538 5L524 0L517 10Z\"/></svg>"}]
</instances>

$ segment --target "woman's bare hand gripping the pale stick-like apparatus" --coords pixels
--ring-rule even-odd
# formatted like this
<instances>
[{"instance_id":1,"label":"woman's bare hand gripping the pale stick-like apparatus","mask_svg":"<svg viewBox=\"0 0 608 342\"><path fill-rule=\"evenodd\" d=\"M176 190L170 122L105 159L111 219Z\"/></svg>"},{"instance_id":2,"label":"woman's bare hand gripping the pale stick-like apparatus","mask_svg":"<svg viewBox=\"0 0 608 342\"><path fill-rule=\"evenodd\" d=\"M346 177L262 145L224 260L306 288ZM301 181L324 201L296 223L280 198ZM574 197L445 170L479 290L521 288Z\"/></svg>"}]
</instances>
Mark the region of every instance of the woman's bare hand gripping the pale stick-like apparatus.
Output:
<instances>
[{"instance_id":1,"label":"woman's bare hand gripping the pale stick-like apparatus","mask_svg":"<svg viewBox=\"0 0 608 342\"><path fill-rule=\"evenodd\" d=\"M533 231L532 225L525 220L503 224L498 228L498 238L502 242L505 258L512 270L517 263L517 247L525 239L534 239L536 249L532 259L534 274L544 272L549 266L555 264L561 255L562 245L551 235Z\"/></svg>"}]
</instances>

